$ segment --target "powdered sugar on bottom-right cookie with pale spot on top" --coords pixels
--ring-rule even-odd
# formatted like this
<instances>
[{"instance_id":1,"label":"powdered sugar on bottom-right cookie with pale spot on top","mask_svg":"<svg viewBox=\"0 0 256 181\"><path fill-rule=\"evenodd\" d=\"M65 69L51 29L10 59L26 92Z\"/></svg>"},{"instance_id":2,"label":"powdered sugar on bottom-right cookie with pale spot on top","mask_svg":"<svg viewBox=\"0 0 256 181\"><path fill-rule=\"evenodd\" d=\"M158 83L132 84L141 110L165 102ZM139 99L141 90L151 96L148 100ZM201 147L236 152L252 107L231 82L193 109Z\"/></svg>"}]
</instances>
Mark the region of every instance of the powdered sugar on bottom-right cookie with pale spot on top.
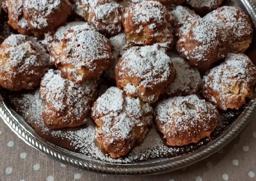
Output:
<instances>
[{"instance_id":1,"label":"powdered sugar on bottom-right cookie with pale spot on top","mask_svg":"<svg viewBox=\"0 0 256 181\"><path fill-rule=\"evenodd\" d=\"M162 123L160 128L168 137L209 130L219 114L215 106L196 95L169 98L160 102L155 111L156 119Z\"/></svg>"}]
</instances>

